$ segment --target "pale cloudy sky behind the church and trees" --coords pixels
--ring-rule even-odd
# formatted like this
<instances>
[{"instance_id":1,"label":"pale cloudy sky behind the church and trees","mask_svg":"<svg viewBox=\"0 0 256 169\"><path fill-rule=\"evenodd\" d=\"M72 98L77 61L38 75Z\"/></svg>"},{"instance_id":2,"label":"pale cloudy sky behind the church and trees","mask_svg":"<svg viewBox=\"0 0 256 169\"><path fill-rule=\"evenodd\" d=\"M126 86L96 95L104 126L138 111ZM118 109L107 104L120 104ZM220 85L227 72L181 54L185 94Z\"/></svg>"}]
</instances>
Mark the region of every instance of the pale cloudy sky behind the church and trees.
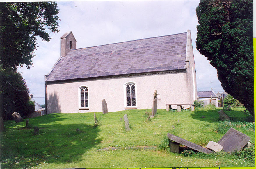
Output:
<instances>
[{"instance_id":1,"label":"pale cloudy sky behind the church and trees","mask_svg":"<svg viewBox=\"0 0 256 169\"><path fill-rule=\"evenodd\" d=\"M44 104L44 75L60 57L60 37L72 31L77 48L172 35L191 30L198 91L223 92L217 71L196 50L199 0L58 2L59 32L38 39L31 69L19 68L30 92Z\"/></svg>"}]
</instances>

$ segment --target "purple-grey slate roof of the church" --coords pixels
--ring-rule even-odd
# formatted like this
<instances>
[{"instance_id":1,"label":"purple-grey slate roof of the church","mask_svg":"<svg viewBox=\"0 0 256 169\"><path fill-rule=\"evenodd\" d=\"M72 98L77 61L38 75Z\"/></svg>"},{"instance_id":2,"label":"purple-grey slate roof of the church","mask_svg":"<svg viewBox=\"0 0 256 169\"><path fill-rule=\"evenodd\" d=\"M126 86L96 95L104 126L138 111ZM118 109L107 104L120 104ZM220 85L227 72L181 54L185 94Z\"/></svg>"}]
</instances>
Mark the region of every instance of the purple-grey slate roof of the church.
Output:
<instances>
[{"instance_id":1,"label":"purple-grey slate roof of the church","mask_svg":"<svg viewBox=\"0 0 256 169\"><path fill-rule=\"evenodd\" d=\"M184 69L186 44L187 32L73 49L46 81Z\"/></svg>"}]
</instances>

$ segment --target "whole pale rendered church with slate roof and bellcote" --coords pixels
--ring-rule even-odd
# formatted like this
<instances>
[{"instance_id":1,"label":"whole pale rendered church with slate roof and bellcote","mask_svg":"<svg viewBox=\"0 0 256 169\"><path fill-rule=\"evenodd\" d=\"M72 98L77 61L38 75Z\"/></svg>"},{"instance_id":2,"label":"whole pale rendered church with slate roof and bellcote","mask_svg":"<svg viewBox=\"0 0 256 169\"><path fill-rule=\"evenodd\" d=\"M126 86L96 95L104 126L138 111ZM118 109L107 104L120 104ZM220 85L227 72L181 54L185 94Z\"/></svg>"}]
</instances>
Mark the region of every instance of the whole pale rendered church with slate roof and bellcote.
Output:
<instances>
[{"instance_id":1,"label":"whole pale rendered church with slate roof and bellcote","mask_svg":"<svg viewBox=\"0 0 256 169\"><path fill-rule=\"evenodd\" d=\"M60 57L45 75L49 113L151 109L193 104L196 71L190 30L174 35L76 49L72 32L61 37Z\"/></svg>"}]
</instances>

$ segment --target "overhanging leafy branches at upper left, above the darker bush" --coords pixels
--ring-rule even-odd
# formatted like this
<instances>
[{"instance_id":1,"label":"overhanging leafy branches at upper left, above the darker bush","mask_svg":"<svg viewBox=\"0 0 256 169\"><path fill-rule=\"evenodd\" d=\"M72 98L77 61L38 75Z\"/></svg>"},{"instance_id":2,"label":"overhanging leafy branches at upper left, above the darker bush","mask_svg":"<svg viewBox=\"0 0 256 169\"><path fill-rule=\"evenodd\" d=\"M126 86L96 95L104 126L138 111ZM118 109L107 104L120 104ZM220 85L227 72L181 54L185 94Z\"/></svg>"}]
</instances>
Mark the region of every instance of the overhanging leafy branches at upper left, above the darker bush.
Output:
<instances>
[{"instance_id":1,"label":"overhanging leafy branches at upper left, above the darker bush","mask_svg":"<svg viewBox=\"0 0 256 169\"><path fill-rule=\"evenodd\" d=\"M0 50L1 66L33 65L36 39L49 41L48 32L58 32L56 2L0 3Z\"/></svg>"}]
</instances>

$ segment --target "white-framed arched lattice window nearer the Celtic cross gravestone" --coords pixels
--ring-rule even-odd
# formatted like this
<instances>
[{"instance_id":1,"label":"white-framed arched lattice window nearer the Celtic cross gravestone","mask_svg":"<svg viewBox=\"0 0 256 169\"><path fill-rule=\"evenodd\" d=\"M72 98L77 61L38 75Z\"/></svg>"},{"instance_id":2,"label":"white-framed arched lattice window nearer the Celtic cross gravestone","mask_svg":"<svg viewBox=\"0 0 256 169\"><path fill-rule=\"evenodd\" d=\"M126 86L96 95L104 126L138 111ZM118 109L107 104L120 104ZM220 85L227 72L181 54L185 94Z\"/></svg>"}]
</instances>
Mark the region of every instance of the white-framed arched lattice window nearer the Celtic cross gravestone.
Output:
<instances>
[{"instance_id":1,"label":"white-framed arched lattice window nearer the Celtic cross gravestone","mask_svg":"<svg viewBox=\"0 0 256 169\"><path fill-rule=\"evenodd\" d=\"M136 107L136 89L135 84L128 83L125 85L126 106Z\"/></svg>"}]
</instances>

